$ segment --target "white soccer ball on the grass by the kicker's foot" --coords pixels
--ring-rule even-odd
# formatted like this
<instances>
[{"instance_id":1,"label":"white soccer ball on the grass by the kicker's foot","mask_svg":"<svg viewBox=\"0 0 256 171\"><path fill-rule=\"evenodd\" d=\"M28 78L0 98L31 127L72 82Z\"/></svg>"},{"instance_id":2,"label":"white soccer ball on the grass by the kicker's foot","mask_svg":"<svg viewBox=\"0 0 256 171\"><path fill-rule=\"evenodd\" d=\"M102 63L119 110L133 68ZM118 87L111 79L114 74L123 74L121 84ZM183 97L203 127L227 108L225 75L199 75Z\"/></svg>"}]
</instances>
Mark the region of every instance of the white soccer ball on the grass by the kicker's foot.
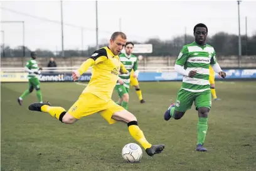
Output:
<instances>
[{"instance_id":1,"label":"white soccer ball on the grass by the kicker's foot","mask_svg":"<svg viewBox=\"0 0 256 171\"><path fill-rule=\"evenodd\" d=\"M135 143L129 143L124 145L124 148L122 149L122 157L126 162L129 163L139 162L142 157L141 147L139 147L139 145Z\"/></svg>"}]
</instances>

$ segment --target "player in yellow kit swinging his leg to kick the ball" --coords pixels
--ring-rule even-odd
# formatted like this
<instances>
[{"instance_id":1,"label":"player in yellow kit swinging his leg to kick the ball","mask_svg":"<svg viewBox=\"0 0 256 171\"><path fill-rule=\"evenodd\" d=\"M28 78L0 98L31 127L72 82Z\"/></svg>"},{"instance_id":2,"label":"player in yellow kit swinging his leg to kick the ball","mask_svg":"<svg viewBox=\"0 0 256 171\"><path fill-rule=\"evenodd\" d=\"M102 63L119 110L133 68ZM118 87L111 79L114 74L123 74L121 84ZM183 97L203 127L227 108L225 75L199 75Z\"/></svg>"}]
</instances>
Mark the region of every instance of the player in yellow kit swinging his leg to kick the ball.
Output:
<instances>
[{"instance_id":1,"label":"player in yellow kit swinging his leg to kick the ball","mask_svg":"<svg viewBox=\"0 0 256 171\"><path fill-rule=\"evenodd\" d=\"M136 117L111 99L119 74L127 73L118 56L126 39L123 32L114 32L109 46L95 51L77 71L72 72L73 81L76 81L92 66L90 82L68 112L63 107L53 107L49 103L33 103L29 105L29 110L48 113L65 124L73 124L82 117L99 112L109 124L116 121L126 123L132 137L144 147L148 155L162 152L164 145L149 144L138 127Z\"/></svg>"}]
</instances>

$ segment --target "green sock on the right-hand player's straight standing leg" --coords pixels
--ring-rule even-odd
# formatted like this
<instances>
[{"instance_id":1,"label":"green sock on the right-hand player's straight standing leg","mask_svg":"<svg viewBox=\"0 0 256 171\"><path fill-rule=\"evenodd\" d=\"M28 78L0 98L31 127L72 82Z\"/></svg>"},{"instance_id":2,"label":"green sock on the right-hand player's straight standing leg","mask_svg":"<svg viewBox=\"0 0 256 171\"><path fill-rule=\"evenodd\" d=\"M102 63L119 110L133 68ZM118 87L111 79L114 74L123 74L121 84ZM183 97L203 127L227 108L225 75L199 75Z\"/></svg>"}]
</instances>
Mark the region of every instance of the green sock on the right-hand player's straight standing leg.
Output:
<instances>
[{"instance_id":1,"label":"green sock on the right-hand player's straight standing leg","mask_svg":"<svg viewBox=\"0 0 256 171\"><path fill-rule=\"evenodd\" d=\"M203 145L203 143L205 142L205 137L206 137L206 133L207 133L207 129L208 129L208 118L206 117L200 117L198 119L198 144Z\"/></svg>"}]
</instances>

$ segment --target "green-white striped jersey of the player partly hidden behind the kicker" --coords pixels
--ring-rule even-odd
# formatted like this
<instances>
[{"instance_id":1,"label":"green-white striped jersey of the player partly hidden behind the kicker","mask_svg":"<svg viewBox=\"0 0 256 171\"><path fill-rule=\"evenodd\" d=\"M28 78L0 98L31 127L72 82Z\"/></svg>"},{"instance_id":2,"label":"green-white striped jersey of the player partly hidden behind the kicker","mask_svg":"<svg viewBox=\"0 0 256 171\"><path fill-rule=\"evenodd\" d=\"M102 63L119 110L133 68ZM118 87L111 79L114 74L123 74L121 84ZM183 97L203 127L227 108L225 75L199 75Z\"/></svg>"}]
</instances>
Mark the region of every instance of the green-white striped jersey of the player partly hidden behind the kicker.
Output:
<instances>
[{"instance_id":1,"label":"green-white striped jersey of the player partly hidden behind the kicker","mask_svg":"<svg viewBox=\"0 0 256 171\"><path fill-rule=\"evenodd\" d=\"M138 62L137 57L131 54L130 56L126 56L125 54L120 54L120 61L122 64L124 64L125 69L129 71L127 74L120 74L119 77L124 80L124 86L129 88L130 87L130 75L132 72L132 69L134 71L137 71L138 69ZM117 85L120 85L119 82L117 82Z\"/></svg>"}]
</instances>

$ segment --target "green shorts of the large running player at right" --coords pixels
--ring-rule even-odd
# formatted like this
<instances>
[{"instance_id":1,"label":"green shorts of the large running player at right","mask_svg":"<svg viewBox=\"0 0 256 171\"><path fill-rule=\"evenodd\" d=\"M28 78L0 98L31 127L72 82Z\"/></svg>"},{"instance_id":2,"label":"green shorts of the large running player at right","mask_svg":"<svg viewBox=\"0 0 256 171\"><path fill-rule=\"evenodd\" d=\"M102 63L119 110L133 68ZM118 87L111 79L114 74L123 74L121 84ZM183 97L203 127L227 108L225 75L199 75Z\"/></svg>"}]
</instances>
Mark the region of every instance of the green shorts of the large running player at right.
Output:
<instances>
[{"instance_id":1,"label":"green shorts of the large running player at right","mask_svg":"<svg viewBox=\"0 0 256 171\"><path fill-rule=\"evenodd\" d=\"M179 89L175 110L185 112L191 108L193 102L195 102L196 110L198 110L199 107L211 109L211 90L189 92L188 90Z\"/></svg>"}]
</instances>

